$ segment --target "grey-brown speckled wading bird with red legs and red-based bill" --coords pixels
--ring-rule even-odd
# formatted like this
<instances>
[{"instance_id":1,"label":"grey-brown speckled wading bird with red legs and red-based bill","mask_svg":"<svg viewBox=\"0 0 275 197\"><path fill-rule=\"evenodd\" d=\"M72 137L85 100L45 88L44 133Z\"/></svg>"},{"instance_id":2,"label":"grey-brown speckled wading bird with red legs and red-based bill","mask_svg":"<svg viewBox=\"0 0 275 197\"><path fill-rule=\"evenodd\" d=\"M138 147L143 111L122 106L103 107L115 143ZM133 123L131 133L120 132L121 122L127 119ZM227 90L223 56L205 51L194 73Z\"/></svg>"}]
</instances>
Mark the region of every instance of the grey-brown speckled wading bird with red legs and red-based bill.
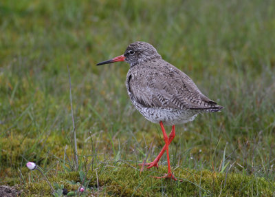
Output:
<instances>
[{"instance_id":1,"label":"grey-brown speckled wading bird with red legs and red-based bill","mask_svg":"<svg viewBox=\"0 0 275 197\"><path fill-rule=\"evenodd\" d=\"M175 138L175 125L193 121L203 112L221 112L217 105L201 93L190 77L171 65L157 52L153 45L136 41L126 48L124 54L97 65L126 61L130 68L126 75L126 90L140 114L152 123L159 123L164 136L164 147L151 163L143 165L158 168L159 159L166 151L168 172L155 178L177 180L170 169L169 145ZM164 125L172 126L167 136Z\"/></svg>"}]
</instances>

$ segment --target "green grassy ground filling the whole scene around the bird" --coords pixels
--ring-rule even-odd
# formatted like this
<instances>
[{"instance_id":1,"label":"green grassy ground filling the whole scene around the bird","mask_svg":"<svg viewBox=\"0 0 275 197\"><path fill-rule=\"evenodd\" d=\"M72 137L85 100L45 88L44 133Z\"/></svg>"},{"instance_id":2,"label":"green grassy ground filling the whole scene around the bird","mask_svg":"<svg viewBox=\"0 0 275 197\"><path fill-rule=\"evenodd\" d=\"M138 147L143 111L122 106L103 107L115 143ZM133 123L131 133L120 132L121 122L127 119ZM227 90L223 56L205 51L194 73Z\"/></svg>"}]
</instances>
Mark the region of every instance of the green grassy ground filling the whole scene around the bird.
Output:
<instances>
[{"instance_id":1,"label":"green grassy ground filling the whole scene around the bird","mask_svg":"<svg viewBox=\"0 0 275 197\"><path fill-rule=\"evenodd\" d=\"M82 170L99 196L274 195L274 9L257 0L1 1L0 185L50 195L25 167L31 160L71 190ZM170 160L183 183L149 176L166 172L165 156L159 171L140 175L137 163L157 156L162 132L129 101L129 65L96 66L133 41L154 45L225 107L176 127Z\"/></svg>"}]
</instances>

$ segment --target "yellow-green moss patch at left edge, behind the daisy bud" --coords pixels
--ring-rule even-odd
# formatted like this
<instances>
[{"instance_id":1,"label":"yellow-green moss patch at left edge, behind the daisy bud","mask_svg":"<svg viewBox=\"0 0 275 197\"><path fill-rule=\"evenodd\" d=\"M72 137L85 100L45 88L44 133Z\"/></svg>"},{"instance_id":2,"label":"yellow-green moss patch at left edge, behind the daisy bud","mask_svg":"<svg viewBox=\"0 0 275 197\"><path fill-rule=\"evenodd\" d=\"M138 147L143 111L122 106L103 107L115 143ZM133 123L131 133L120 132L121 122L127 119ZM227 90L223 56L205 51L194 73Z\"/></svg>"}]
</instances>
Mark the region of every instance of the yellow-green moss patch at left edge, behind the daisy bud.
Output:
<instances>
[{"instance_id":1,"label":"yellow-green moss patch at left edge, behind the daisy bud","mask_svg":"<svg viewBox=\"0 0 275 197\"><path fill-rule=\"evenodd\" d=\"M18 169L22 174L29 172L25 167L25 163L27 163L25 158L43 167L56 162L56 157L63 158L65 143L60 136L54 135L39 140L24 137L21 134L17 134L17 136L10 134L5 138L0 138L0 149L0 176L4 177L1 183L15 185L20 182ZM67 149L67 154L69 151Z\"/></svg>"}]
</instances>

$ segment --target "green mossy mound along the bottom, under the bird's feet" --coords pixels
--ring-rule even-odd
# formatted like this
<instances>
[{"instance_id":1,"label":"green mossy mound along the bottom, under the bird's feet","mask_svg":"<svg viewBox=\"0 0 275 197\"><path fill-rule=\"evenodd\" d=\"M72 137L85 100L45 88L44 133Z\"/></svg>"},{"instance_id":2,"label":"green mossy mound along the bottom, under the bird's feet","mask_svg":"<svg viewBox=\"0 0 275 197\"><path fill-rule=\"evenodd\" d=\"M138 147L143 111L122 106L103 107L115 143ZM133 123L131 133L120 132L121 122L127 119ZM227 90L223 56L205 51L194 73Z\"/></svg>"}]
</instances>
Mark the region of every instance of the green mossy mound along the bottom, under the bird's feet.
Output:
<instances>
[{"instance_id":1,"label":"green mossy mound along the bottom, under the bird's feet","mask_svg":"<svg viewBox=\"0 0 275 197\"><path fill-rule=\"evenodd\" d=\"M243 176L242 174L214 173L208 170L188 171L177 168L174 174L183 181L156 179L151 176L162 176L166 167L159 170L146 170L141 173L137 167L126 167L125 165L100 165L97 167L98 184L100 194L109 196L272 196L275 183L269 183L264 178L254 176ZM89 182L88 192L92 194L97 185L96 171L89 171L87 175ZM50 178L52 183L65 185L69 191L76 190L76 185L68 181L80 181L78 172L60 174ZM225 182L226 180L226 182ZM23 194L50 195L50 187L44 180L37 183L29 183L23 189Z\"/></svg>"}]
</instances>

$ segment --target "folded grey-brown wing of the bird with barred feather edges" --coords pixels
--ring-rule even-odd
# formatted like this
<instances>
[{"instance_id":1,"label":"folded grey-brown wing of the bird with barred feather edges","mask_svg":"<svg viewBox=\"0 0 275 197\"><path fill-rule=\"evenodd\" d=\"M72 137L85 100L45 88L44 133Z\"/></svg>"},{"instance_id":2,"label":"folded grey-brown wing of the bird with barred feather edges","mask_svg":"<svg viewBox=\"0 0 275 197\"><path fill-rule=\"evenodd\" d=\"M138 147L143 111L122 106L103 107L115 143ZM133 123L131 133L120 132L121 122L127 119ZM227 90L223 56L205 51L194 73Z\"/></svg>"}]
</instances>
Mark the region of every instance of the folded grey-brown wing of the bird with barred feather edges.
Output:
<instances>
[{"instance_id":1,"label":"folded grey-brown wing of the bird with barred feather edges","mask_svg":"<svg viewBox=\"0 0 275 197\"><path fill-rule=\"evenodd\" d=\"M221 106L204 96L184 72L166 61L145 66L129 75L131 96L144 107L219 111Z\"/></svg>"}]
</instances>

